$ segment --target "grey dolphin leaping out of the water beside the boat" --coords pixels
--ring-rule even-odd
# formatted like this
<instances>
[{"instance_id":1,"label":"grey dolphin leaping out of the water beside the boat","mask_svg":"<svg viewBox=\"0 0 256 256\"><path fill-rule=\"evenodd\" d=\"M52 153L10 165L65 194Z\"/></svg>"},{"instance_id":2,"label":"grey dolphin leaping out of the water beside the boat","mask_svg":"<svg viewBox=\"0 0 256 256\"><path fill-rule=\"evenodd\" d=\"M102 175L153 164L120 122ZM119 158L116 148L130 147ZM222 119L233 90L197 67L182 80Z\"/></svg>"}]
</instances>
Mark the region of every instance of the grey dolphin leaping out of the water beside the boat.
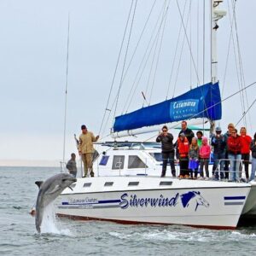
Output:
<instances>
[{"instance_id":1,"label":"grey dolphin leaping out of the water beside the boat","mask_svg":"<svg viewBox=\"0 0 256 256\"><path fill-rule=\"evenodd\" d=\"M41 233L41 224L44 216L44 209L56 199L61 192L75 183L77 179L67 173L59 173L49 177L46 181L36 182L39 187L38 199L36 204L36 229ZM70 188L71 189L71 188Z\"/></svg>"}]
</instances>

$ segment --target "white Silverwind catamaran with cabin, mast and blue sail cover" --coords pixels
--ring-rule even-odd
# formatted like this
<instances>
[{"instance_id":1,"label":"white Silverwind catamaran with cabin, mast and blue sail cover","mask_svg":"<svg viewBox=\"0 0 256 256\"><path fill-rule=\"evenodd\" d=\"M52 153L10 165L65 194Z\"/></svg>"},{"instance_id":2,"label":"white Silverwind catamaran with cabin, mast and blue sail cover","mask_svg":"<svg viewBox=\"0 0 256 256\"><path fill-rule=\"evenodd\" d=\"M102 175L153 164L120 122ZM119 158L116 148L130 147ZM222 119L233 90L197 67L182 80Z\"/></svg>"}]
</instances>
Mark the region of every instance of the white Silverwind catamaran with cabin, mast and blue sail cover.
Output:
<instances>
[{"instance_id":1,"label":"white Silverwind catamaran with cabin, mast and blue sail cover","mask_svg":"<svg viewBox=\"0 0 256 256\"><path fill-rule=\"evenodd\" d=\"M165 102L117 116L114 138L158 131L159 125L177 125L183 119L208 119L213 131L215 121L222 118L216 50L218 20L225 15L219 9L222 2L211 0L211 82ZM78 178L73 190L65 189L55 201L59 216L232 230L241 214L256 205L253 183L160 177L157 143L113 141L102 143L102 147L105 149L94 165L96 177Z\"/></svg>"}]
</instances>

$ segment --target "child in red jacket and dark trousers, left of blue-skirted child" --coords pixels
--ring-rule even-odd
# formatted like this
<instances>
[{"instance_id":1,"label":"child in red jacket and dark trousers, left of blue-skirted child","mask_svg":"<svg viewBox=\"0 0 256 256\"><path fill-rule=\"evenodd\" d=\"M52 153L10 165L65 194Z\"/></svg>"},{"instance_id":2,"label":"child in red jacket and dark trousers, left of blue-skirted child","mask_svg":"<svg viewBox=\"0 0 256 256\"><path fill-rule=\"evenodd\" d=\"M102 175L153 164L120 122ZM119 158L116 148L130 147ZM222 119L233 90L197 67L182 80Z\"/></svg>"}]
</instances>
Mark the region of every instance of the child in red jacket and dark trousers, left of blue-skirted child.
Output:
<instances>
[{"instance_id":1,"label":"child in red jacket and dark trousers, left of blue-skirted child","mask_svg":"<svg viewBox=\"0 0 256 256\"><path fill-rule=\"evenodd\" d=\"M177 138L177 159L179 160L180 178L189 178L189 140L183 133Z\"/></svg>"}]
</instances>

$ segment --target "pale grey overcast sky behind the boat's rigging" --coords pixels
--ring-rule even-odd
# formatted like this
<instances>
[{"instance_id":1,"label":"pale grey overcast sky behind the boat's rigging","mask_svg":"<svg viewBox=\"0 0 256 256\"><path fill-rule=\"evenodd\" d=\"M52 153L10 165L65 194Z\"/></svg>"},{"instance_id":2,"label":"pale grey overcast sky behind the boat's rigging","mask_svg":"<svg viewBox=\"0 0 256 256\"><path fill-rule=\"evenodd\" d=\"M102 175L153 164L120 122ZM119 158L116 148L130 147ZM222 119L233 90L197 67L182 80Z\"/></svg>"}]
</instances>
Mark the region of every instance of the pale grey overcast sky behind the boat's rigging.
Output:
<instances>
[{"instance_id":1,"label":"pale grey overcast sky behind the boat's rigging","mask_svg":"<svg viewBox=\"0 0 256 256\"><path fill-rule=\"evenodd\" d=\"M153 3L153 0L139 0L137 3L128 59L131 58L132 49L137 44L137 38ZM154 26L154 20L157 19L163 3L164 0L156 2L152 20L149 21L149 28ZM195 11L198 3L201 8L203 2L193 0L191 3ZM231 4L230 0L229 3ZM183 8L184 1L180 4ZM241 61L247 85L256 81L254 64L256 59L256 17L254 15L256 3L238 0L236 5ZM76 133L79 136L80 125L85 124L90 131L98 133L130 6L131 1L128 0L0 1L0 160L58 160L62 158L68 13L70 13L70 48L66 158L75 151L73 134ZM227 3L223 5L224 9L228 10L228 7ZM196 20L195 15L192 15L191 19ZM180 26L176 1L170 1L166 24L164 37L166 41L163 40L160 53L163 61L160 61L156 73L156 85L152 90L151 103L163 101L166 97ZM224 82L230 39L229 15L219 21L219 26L218 73L221 84ZM148 38L150 37L149 28L146 31ZM192 33L195 34L195 30ZM192 41L194 39L192 37ZM143 44L138 48L138 57L127 73L124 87L125 84L133 83L139 58L143 55L146 42L147 36L143 38ZM230 45L224 97L239 90L233 44ZM194 43L192 47L196 52ZM195 73L192 72L192 79L190 79L189 49L186 43L183 51L175 96L189 90L190 84L196 84ZM208 56L206 61L209 62ZM201 66L201 61L199 64ZM120 75L120 70L121 66L118 75ZM207 83L210 81L208 67L205 72ZM202 81L202 71L198 73ZM118 81L119 77L115 84L116 91ZM147 81L146 78L142 80L143 86L145 81ZM143 87L135 93L135 99L129 111L142 107L141 90L144 90ZM125 97L129 92L128 89L124 91L119 100L121 104L125 102ZM172 96L172 89L170 91L169 96ZM250 105L254 99L255 86L247 90L247 104ZM121 109L122 107L118 107L118 114ZM246 124L251 135L256 131L255 111L256 107L253 106L250 110L251 119L250 121L247 119ZM225 128L230 122L236 124L241 118L240 96L224 102L223 116L224 119L218 122L222 127ZM241 125L243 123L238 125L238 128Z\"/></svg>"}]
</instances>

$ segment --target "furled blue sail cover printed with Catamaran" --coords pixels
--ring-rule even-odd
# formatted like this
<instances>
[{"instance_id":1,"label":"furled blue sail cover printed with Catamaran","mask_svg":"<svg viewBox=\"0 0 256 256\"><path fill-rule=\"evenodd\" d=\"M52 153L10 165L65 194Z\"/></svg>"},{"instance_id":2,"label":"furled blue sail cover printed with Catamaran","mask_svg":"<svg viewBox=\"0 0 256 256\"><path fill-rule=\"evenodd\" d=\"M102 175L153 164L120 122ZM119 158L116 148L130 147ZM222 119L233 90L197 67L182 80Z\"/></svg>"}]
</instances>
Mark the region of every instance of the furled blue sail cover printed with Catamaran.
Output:
<instances>
[{"instance_id":1,"label":"furled blue sail cover printed with Catamaran","mask_svg":"<svg viewBox=\"0 0 256 256\"><path fill-rule=\"evenodd\" d=\"M113 132L161 125L184 119L221 119L218 83L204 84L181 96L115 117Z\"/></svg>"}]
</instances>

